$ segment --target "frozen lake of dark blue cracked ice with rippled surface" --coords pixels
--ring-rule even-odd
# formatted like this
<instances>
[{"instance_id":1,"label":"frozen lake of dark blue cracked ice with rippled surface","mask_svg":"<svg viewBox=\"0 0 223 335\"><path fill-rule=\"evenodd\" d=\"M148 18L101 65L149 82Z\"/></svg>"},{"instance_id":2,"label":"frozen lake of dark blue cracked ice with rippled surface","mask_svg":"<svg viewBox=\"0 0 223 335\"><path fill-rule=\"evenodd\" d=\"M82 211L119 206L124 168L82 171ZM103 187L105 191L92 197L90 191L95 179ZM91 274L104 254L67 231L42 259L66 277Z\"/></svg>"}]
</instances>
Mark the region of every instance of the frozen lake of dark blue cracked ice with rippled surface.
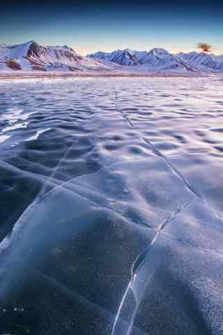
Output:
<instances>
[{"instance_id":1,"label":"frozen lake of dark blue cracked ice with rippled surface","mask_svg":"<svg viewBox=\"0 0 223 335\"><path fill-rule=\"evenodd\" d=\"M223 334L223 81L0 82L0 334Z\"/></svg>"}]
</instances>

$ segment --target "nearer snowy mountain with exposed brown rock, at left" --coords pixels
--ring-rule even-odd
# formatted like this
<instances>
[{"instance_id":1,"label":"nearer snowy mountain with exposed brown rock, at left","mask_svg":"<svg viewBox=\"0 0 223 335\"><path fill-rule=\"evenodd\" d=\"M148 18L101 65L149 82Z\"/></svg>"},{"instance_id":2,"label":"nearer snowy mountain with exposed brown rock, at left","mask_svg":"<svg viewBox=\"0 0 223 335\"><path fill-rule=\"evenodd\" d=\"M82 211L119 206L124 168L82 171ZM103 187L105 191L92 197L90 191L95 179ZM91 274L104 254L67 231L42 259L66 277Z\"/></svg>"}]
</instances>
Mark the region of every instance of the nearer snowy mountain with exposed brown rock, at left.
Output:
<instances>
[{"instance_id":1,"label":"nearer snowy mountain with exposed brown rock, at left","mask_svg":"<svg viewBox=\"0 0 223 335\"><path fill-rule=\"evenodd\" d=\"M31 40L20 45L0 45L0 70L109 70L95 59L82 57L67 45L43 47Z\"/></svg>"}]
</instances>

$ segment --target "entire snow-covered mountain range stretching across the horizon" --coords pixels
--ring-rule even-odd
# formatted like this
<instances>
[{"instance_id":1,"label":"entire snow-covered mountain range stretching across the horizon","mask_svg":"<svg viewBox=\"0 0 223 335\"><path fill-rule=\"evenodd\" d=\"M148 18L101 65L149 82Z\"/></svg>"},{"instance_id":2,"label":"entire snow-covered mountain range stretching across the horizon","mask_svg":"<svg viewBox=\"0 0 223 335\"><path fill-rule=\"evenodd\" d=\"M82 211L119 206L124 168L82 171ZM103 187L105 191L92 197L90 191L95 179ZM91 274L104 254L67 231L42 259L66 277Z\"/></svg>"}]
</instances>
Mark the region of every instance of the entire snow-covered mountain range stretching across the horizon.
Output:
<instances>
[{"instance_id":1,"label":"entire snow-covered mountain range stretching across the horizon","mask_svg":"<svg viewBox=\"0 0 223 335\"><path fill-rule=\"evenodd\" d=\"M223 55L206 52L171 54L116 50L86 57L67 45L42 46L31 40L20 45L0 45L0 71L62 71L75 73L223 73Z\"/></svg>"}]
</instances>

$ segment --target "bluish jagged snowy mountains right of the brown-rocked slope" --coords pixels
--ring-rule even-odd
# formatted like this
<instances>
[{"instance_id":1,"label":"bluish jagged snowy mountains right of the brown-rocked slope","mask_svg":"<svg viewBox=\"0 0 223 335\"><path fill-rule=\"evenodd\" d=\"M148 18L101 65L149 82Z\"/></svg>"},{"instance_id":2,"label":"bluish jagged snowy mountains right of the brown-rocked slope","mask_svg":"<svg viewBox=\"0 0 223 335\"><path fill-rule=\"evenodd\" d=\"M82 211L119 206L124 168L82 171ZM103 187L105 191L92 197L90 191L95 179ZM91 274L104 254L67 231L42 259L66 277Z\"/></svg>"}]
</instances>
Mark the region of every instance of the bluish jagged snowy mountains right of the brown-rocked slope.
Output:
<instances>
[{"instance_id":1,"label":"bluish jagged snowy mountains right of the brown-rocked slope","mask_svg":"<svg viewBox=\"0 0 223 335\"><path fill-rule=\"evenodd\" d=\"M171 54L162 48L152 50L116 50L114 52L96 52L89 54L90 58L102 61L112 61L119 65L144 66L144 69L177 72L223 72L223 55L215 56L205 52L190 52Z\"/></svg>"}]
</instances>

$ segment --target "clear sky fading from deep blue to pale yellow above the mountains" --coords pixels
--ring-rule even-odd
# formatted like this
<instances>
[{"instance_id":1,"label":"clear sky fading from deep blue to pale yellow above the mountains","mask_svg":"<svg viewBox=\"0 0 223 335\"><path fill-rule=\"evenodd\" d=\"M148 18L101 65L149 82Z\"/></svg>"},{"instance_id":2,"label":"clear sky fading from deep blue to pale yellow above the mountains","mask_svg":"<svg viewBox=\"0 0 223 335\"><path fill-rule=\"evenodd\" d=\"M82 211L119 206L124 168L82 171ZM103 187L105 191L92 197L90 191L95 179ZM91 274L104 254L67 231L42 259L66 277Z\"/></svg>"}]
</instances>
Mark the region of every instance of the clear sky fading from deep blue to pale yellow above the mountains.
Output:
<instances>
[{"instance_id":1,"label":"clear sky fading from deep blue to pale yellow above the mountains","mask_svg":"<svg viewBox=\"0 0 223 335\"><path fill-rule=\"evenodd\" d=\"M28 40L80 54L125 47L187 52L201 42L223 54L223 0L1 1L0 43Z\"/></svg>"}]
</instances>

